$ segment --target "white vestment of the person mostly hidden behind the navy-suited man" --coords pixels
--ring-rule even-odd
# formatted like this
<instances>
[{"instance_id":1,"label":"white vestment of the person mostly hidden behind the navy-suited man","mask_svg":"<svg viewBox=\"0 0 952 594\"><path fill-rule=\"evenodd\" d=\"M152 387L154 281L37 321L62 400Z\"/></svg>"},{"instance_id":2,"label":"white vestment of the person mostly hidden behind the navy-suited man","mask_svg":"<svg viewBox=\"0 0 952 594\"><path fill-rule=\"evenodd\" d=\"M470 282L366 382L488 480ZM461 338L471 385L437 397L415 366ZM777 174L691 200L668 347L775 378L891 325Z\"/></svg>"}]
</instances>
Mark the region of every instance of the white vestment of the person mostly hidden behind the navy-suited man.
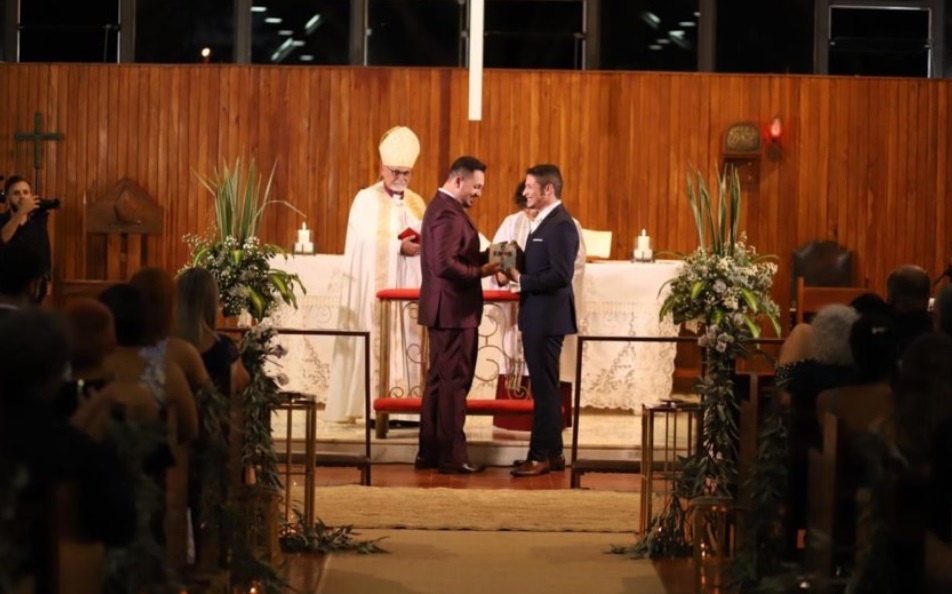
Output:
<instances>
[{"instance_id":1,"label":"white vestment of the person mostly hidden behind the navy-suited man","mask_svg":"<svg viewBox=\"0 0 952 594\"><path fill-rule=\"evenodd\" d=\"M582 291L585 284L585 241L582 239L582 226L575 221L575 228L578 229L578 255L575 257L575 270L572 275L572 292L575 294L575 314L578 318L579 332L583 332L582 323L585 319L584 298ZM512 241L519 245L521 249L526 247L526 239L529 237L529 225L531 221L526 216L524 210L508 215L503 219L499 229L493 236L493 243L501 241ZM496 284L495 276L486 277L483 280L484 289L499 290ZM516 320L510 320L506 328L506 335L503 338L506 354L514 357L519 362L518 368L523 375L529 375L529 370L525 365L525 358L522 355L522 340L519 337L519 329ZM575 381L575 353L578 348L578 339L575 336L566 336L565 343L562 345L562 357L559 361L559 379L564 382ZM506 373L509 372L508 362L504 366Z\"/></svg>"}]
</instances>

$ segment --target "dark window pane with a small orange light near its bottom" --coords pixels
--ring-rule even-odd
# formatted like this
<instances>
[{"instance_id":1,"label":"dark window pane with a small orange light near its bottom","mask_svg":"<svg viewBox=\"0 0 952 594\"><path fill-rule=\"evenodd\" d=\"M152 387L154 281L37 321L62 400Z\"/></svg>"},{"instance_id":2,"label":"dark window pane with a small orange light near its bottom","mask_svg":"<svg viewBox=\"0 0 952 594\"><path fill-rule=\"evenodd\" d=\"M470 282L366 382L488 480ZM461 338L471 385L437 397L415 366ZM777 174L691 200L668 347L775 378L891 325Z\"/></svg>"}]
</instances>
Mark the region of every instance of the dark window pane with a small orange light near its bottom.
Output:
<instances>
[{"instance_id":1,"label":"dark window pane with a small orange light near its bottom","mask_svg":"<svg viewBox=\"0 0 952 594\"><path fill-rule=\"evenodd\" d=\"M234 10L223 0L138 0L136 61L233 62Z\"/></svg>"}]
</instances>

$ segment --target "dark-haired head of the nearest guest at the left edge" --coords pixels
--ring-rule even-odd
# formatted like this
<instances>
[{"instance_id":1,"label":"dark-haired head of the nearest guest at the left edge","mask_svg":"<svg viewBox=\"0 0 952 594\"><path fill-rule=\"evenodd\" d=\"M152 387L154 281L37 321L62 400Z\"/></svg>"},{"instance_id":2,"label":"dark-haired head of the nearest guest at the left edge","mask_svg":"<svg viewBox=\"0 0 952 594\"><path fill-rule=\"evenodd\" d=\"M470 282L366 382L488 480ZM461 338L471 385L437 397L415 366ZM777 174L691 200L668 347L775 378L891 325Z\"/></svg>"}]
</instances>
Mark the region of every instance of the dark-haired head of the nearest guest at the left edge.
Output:
<instances>
[{"instance_id":1,"label":"dark-haired head of the nearest guest at the left edge","mask_svg":"<svg viewBox=\"0 0 952 594\"><path fill-rule=\"evenodd\" d=\"M69 363L63 318L38 308L21 309L0 321L0 402L5 411L55 395ZM6 416L0 414L0 417ZM5 422L11 419L4 419Z\"/></svg>"}]
</instances>

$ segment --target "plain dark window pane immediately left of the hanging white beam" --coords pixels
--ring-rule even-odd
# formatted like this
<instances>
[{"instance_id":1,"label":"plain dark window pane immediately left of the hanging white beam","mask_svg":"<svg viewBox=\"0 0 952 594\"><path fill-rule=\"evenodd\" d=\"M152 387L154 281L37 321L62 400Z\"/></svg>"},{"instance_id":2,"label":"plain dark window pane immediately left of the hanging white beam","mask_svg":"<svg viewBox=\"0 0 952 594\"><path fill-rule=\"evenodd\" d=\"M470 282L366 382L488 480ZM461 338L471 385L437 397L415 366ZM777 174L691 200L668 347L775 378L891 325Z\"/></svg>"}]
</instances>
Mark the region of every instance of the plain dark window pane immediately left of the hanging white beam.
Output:
<instances>
[{"instance_id":1,"label":"plain dark window pane immediately left of the hanging white beam","mask_svg":"<svg viewBox=\"0 0 952 594\"><path fill-rule=\"evenodd\" d=\"M368 0L367 63L459 66L466 5L457 0Z\"/></svg>"}]
</instances>

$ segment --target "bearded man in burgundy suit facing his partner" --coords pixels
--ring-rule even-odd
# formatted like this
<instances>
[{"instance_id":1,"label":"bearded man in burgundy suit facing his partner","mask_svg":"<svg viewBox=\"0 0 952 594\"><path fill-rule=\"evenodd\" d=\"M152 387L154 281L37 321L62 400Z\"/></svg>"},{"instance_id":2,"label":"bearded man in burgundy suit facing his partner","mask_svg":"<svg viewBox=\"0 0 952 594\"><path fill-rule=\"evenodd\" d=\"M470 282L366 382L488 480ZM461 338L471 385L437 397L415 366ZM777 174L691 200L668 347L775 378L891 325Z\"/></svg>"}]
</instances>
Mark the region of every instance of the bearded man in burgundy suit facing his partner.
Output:
<instances>
[{"instance_id":1,"label":"bearded man in burgundy suit facing his partner","mask_svg":"<svg viewBox=\"0 0 952 594\"><path fill-rule=\"evenodd\" d=\"M429 333L430 366L417 469L472 474L485 468L469 463L463 433L483 316L480 280L499 270L499 264L488 264L486 254L480 253L479 234L466 214L482 193L485 178L486 165L479 159L460 157L423 215L419 320Z\"/></svg>"}]
</instances>

